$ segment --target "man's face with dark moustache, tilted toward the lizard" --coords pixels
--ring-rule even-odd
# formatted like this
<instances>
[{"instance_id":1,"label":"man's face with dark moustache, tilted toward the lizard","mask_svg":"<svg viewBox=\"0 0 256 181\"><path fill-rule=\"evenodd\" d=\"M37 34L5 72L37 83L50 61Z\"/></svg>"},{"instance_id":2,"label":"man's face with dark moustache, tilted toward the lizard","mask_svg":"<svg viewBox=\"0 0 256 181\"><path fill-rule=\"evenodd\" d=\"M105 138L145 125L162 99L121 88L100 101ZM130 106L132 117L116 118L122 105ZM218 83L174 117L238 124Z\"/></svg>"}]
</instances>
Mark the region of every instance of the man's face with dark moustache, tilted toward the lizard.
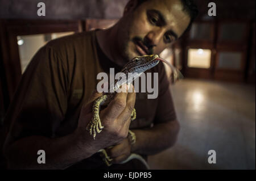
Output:
<instances>
[{"instance_id":1,"label":"man's face with dark moustache, tilted toward the lizard","mask_svg":"<svg viewBox=\"0 0 256 181\"><path fill-rule=\"evenodd\" d=\"M160 54L188 27L190 17L180 0L146 1L136 9L133 3L127 6L118 32L119 48L128 60Z\"/></svg>"}]
</instances>

